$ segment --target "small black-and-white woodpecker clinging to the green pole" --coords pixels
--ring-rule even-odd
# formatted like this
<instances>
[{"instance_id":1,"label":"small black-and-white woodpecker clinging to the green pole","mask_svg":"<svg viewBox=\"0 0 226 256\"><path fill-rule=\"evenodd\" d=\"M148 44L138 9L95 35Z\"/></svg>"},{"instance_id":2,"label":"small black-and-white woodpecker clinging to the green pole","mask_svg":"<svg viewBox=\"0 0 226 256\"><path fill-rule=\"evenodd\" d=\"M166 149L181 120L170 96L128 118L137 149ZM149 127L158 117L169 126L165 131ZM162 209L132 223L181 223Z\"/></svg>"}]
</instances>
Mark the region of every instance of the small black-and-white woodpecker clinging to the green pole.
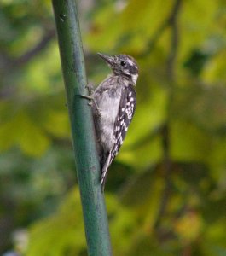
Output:
<instances>
[{"instance_id":1,"label":"small black-and-white woodpecker clinging to the green pole","mask_svg":"<svg viewBox=\"0 0 226 256\"><path fill-rule=\"evenodd\" d=\"M138 67L129 55L98 55L113 70L113 74L102 81L92 95L103 191L108 167L119 153L136 109L134 87L138 78Z\"/></svg>"}]
</instances>

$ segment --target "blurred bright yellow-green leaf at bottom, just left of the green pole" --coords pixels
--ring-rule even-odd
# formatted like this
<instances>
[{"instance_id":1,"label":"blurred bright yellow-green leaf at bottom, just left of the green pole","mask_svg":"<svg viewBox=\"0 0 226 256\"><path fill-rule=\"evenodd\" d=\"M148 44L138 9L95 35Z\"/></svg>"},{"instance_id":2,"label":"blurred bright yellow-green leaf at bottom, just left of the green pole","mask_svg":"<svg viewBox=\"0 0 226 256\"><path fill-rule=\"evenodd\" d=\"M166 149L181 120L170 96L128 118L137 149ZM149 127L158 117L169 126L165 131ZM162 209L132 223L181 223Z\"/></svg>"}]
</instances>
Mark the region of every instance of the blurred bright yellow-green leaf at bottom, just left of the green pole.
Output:
<instances>
[{"instance_id":1,"label":"blurred bright yellow-green leaf at bottom, just left of the green pole","mask_svg":"<svg viewBox=\"0 0 226 256\"><path fill-rule=\"evenodd\" d=\"M26 255L78 255L84 249L82 208L76 189L67 195L54 216L31 226Z\"/></svg>"}]
</instances>

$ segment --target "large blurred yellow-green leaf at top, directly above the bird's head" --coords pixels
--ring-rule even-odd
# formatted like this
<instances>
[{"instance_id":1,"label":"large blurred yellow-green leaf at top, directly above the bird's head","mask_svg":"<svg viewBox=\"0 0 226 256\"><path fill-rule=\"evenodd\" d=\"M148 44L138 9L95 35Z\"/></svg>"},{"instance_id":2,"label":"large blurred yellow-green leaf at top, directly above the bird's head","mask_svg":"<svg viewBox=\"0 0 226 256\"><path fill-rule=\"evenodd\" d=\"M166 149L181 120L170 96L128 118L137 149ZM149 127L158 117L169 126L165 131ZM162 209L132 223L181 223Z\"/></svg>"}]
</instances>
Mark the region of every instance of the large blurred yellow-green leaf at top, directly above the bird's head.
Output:
<instances>
[{"instance_id":1,"label":"large blurred yellow-green leaf at top, directly above the bird's head","mask_svg":"<svg viewBox=\"0 0 226 256\"><path fill-rule=\"evenodd\" d=\"M93 31L87 38L95 51L109 51L114 47L127 52L146 48L148 40L168 17L172 1L162 4L158 0L132 0L123 10L114 10L110 4L96 14ZM103 15L107 14L108 15ZM151 22L151 26L150 26Z\"/></svg>"}]
</instances>

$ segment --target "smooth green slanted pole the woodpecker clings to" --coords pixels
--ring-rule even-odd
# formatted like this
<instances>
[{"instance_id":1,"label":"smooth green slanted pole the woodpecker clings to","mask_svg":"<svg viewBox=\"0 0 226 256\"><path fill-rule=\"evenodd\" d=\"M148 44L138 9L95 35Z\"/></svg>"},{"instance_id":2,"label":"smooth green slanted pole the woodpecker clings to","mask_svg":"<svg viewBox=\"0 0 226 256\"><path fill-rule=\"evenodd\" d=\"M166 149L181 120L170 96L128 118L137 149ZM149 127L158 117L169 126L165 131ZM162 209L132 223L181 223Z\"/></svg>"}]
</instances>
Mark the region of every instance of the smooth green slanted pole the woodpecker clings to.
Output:
<instances>
[{"instance_id":1,"label":"smooth green slanted pole the woodpecker clings to","mask_svg":"<svg viewBox=\"0 0 226 256\"><path fill-rule=\"evenodd\" d=\"M107 212L101 193L95 130L88 101L81 97L87 93L87 79L77 8L74 0L53 0L52 3L67 91L88 253L92 256L108 256L112 253Z\"/></svg>"}]
</instances>

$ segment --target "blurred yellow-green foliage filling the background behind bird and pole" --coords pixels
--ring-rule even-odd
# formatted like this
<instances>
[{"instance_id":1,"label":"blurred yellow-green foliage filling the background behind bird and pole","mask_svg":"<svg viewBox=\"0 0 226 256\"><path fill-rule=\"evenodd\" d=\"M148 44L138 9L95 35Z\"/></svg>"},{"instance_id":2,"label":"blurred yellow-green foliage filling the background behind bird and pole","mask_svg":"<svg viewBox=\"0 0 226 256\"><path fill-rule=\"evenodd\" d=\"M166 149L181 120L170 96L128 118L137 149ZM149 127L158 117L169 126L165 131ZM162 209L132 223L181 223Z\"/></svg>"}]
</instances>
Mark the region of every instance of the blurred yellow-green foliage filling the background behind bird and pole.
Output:
<instances>
[{"instance_id":1,"label":"blurred yellow-green foliage filling the background behind bird and pole","mask_svg":"<svg viewBox=\"0 0 226 256\"><path fill-rule=\"evenodd\" d=\"M140 67L107 179L114 255L226 255L225 1L78 5L89 80L109 73L96 52ZM3 0L0 20L0 253L86 255L51 3Z\"/></svg>"}]
</instances>

